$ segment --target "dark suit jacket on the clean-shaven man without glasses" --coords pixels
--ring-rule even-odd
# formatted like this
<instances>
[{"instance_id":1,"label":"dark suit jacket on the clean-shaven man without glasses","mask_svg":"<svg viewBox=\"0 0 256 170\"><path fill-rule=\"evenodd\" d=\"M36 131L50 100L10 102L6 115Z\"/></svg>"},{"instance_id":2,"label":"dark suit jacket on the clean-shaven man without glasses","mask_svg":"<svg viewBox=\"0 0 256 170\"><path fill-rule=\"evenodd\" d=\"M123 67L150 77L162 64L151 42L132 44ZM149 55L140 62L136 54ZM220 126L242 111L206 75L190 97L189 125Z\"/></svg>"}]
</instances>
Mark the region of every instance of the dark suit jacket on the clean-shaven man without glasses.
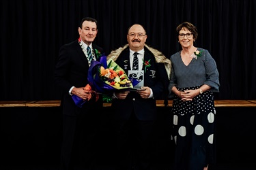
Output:
<instances>
[{"instance_id":1,"label":"dark suit jacket on the clean-shaven man without glasses","mask_svg":"<svg viewBox=\"0 0 256 170\"><path fill-rule=\"evenodd\" d=\"M92 44L92 46L94 48L94 54L96 54L95 49L99 50L101 54L104 54L102 48L96 46L96 44ZM98 58L96 57L96 59L99 61L100 56ZM60 48L59 58L55 67L55 87L61 88L62 90L61 106L63 107L63 114L76 116L76 114L79 114L84 109L96 109L102 105L102 97L100 97L98 102L91 99L79 109L68 93L72 86L85 87L88 84L88 69L87 57L77 40Z\"/></svg>"}]
</instances>

